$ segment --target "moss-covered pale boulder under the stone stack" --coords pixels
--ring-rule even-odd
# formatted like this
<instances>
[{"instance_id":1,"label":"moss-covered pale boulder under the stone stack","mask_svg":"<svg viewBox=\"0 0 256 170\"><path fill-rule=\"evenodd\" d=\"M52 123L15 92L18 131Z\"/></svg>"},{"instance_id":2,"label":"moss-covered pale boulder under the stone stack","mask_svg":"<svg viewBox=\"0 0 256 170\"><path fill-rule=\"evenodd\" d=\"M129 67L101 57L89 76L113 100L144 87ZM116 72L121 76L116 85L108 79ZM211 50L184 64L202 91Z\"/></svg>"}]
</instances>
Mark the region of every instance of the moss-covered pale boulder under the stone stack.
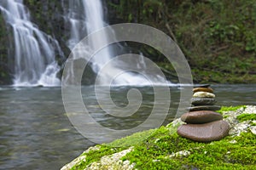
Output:
<instances>
[{"instance_id":1,"label":"moss-covered pale boulder under the stone stack","mask_svg":"<svg viewBox=\"0 0 256 170\"><path fill-rule=\"evenodd\" d=\"M110 144L98 144L68 163L67 169L253 169L256 164L256 106L222 107L230 125L227 137L209 143L177 135L184 122L135 133ZM137 138L150 133L148 139ZM115 145L123 144L121 147Z\"/></svg>"}]
</instances>

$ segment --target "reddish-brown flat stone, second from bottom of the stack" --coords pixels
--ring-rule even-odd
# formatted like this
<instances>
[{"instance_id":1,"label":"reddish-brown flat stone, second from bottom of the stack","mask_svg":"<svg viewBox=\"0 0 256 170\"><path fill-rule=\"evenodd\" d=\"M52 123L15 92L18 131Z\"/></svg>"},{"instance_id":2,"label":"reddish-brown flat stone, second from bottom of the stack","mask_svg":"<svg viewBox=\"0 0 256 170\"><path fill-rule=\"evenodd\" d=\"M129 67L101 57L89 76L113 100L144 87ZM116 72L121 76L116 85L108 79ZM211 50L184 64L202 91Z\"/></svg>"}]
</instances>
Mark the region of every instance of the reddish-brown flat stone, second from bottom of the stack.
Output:
<instances>
[{"instance_id":1,"label":"reddish-brown flat stone, second from bottom of the stack","mask_svg":"<svg viewBox=\"0 0 256 170\"><path fill-rule=\"evenodd\" d=\"M187 123L207 123L222 119L223 116L215 111L191 111L181 116L181 120Z\"/></svg>"}]
</instances>

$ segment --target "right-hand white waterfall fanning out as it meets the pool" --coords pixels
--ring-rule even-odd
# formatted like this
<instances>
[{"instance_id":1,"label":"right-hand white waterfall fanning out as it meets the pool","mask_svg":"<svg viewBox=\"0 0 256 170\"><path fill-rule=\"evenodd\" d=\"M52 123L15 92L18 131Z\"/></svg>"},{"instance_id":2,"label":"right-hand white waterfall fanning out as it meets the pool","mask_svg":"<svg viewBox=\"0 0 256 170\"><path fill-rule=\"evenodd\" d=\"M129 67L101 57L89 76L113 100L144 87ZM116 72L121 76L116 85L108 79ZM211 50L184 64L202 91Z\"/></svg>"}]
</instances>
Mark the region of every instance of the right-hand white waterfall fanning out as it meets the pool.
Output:
<instances>
[{"instance_id":1,"label":"right-hand white waterfall fanning out as it meets the pool","mask_svg":"<svg viewBox=\"0 0 256 170\"><path fill-rule=\"evenodd\" d=\"M108 26L103 20L101 0L69 0L68 7L66 7L66 9L64 0L62 0L62 6L64 11L66 11L65 19L67 26L69 26L70 37L67 41L67 46L70 49L73 49L80 40L86 37L86 35L93 31L98 31L104 26ZM113 37L114 35L111 36ZM97 42L108 41L108 35L101 35L101 37L98 38L99 39L94 39L93 41L88 42L88 44L90 44L90 48L97 47ZM113 53L110 48L104 48L100 53L96 54L96 57L91 61L93 71L96 73L101 71L102 66L112 59L112 55ZM101 72L99 83L101 85L108 85L109 79L114 78L113 85L148 85L149 83L146 77L131 71L123 70L123 68L127 68L129 65L132 65L133 67L137 66L137 68L146 67L141 57L133 59L130 63L120 61L118 64L110 64L108 65L108 71ZM144 75L147 75L145 71L142 70L142 72ZM149 77L151 77L149 81L154 84L169 83L164 77L160 77L159 75L150 75Z\"/></svg>"}]
</instances>

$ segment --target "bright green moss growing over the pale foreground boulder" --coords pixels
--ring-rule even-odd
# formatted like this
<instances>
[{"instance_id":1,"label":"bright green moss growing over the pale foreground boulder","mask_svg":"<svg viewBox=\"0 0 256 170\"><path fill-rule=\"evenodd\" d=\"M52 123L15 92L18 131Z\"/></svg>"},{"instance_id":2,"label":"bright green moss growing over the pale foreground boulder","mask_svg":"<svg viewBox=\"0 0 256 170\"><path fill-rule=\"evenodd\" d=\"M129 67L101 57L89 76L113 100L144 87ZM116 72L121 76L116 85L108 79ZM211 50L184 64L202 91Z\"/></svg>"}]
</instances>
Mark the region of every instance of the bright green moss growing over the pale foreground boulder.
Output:
<instances>
[{"instance_id":1,"label":"bright green moss growing over the pale foreground boulder","mask_svg":"<svg viewBox=\"0 0 256 170\"><path fill-rule=\"evenodd\" d=\"M241 107L245 108L244 105L222 107L220 111L236 111ZM255 114L250 116L241 114L238 119L255 120ZM133 145L133 150L121 160L134 162L137 169L253 169L255 167L256 135L250 131L236 137L227 136L211 143L199 143L177 135L177 127L172 127L170 124L166 127L134 133L110 144L101 144L100 150L91 150L84 154L86 161L81 161L73 169L84 169L91 162L99 161L102 156L125 150L130 145ZM179 154L180 151L186 154Z\"/></svg>"}]
</instances>

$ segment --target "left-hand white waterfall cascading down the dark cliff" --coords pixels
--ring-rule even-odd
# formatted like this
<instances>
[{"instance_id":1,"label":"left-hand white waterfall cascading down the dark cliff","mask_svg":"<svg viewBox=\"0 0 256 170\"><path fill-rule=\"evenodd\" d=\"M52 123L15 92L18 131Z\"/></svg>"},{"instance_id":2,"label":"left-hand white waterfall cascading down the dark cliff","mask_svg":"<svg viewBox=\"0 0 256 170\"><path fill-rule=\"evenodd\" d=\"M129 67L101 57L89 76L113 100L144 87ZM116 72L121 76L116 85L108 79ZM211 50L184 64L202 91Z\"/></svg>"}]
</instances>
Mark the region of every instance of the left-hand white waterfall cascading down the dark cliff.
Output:
<instances>
[{"instance_id":1,"label":"left-hand white waterfall cascading down the dark cliff","mask_svg":"<svg viewBox=\"0 0 256 170\"><path fill-rule=\"evenodd\" d=\"M60 71L55 61L55 51L62 55L58 42L39 31L30 21L23 0L0 1L0 10L13 32L14 85L58 86L56 77ZM13 58L14 57L14 58Z\"/></svg>"}]
</instances>

